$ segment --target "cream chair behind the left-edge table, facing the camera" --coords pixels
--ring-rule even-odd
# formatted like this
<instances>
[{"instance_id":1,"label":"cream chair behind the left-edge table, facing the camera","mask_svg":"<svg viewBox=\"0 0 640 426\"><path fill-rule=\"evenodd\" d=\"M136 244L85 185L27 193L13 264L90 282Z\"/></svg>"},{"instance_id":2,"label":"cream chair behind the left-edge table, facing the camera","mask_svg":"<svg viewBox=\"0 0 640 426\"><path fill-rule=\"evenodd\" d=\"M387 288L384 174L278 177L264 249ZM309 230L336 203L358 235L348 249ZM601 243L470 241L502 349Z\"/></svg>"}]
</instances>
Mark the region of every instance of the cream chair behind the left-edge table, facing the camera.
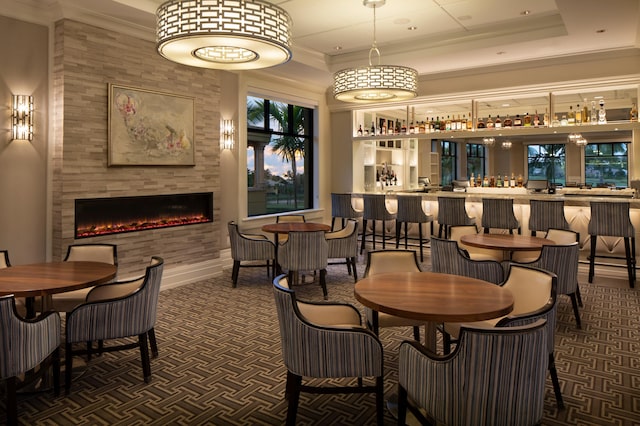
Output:
<instances>
[{"instance_id":1,"label":"cream chair behind the left-edge table, facing the camera","mask_svg":"<svg viewBox=\"0 0 640 426\"><path fill-rule=\"evenodd\" d=\"M65 262L102 262L118 266L118 247L115 244L72 244L67 249ZM71 312L84 303L92 287L54 294L51 299L57 312Z\"/></svg>"}]
</instances>

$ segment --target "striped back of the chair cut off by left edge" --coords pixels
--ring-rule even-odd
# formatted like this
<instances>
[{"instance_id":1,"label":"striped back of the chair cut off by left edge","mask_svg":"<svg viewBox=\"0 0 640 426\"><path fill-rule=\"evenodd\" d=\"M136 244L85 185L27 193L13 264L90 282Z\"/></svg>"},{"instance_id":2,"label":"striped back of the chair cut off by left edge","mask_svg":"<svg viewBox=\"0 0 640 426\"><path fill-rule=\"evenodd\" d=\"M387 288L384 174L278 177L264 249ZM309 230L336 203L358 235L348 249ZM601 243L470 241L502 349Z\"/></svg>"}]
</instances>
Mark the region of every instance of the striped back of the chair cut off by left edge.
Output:
<instances>
[{"instance_id":1,"label":"striped back of the chair cut off by left edge","mask_svg":"<svg viewBox=\"0 0 640 426\"><path fill-rule=\"evenodd\" d=\"M60 315L23 320L13 295L0 297L0 379L31 370L60 346Z\"/></svg>"}]
</instances>

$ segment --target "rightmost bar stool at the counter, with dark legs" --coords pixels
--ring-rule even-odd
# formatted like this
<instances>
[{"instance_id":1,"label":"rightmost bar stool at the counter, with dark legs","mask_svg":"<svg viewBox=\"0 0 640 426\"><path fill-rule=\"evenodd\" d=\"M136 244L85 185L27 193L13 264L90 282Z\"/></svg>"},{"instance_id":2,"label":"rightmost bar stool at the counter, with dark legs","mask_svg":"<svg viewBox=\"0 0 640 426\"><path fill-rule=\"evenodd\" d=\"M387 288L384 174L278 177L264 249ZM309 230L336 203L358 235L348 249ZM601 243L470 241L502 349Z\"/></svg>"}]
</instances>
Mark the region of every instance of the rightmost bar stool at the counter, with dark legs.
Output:
<instances>
[{"instance_id":1,"label":"rightmost bar stool at the counter, with dark legs","mask_svg":"<svg viewBox=\"0 0 640 426\"><path fill-rule=\"evenodd\" d=\"M596 242L598 237L621 237L624 239L624 253L627 261L629 286L635 287L636 282L636 237L635 229L629 216L629 203L591 201L591 219L589 220L589 235L591 236L591 255L589 256L589 282L593 282ZM620 258L617 256L598 257Z\"/></svg>"}]
</instances>

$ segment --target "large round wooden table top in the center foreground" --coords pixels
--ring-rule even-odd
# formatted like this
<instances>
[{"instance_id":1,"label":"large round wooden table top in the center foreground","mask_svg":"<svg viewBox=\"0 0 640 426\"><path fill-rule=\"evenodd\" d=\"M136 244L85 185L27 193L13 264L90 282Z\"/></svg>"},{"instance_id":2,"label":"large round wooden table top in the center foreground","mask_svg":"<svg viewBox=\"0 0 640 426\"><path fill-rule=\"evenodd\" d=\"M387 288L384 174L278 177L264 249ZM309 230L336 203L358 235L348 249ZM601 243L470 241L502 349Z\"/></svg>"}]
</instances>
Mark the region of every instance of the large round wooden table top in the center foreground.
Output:
<instances>
[{"instance_id":1,"label":"large round wooden table top in the center foreground","mask_svg":"<svg viewBox=\"0 0 640 426\"><path fill-rule=\"evenodd\" d=\"M513 295L496 284L435 272L395 272L363 278L355 297L375 311L433 322L471 322L513 310Z\"/></svg>"}]
</instances>

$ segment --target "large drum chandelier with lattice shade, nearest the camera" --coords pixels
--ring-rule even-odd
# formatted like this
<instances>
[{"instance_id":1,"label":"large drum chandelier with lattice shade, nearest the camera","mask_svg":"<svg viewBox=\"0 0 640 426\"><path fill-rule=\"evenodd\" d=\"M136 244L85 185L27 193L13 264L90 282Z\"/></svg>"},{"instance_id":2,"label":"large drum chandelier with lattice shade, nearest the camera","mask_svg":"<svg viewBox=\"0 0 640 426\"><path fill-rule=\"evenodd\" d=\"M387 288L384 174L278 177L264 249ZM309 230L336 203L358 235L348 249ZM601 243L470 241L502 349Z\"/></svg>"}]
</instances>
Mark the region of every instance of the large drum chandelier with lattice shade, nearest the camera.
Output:
<instances>
[{"instance_id":1,"label":"large drum chandelier with lattice shade, nearest the camera","mask_svg":"<svg viewBox=\"0 0 640 426\"><path fill-rule=\"evenodd\" d=\"M158 7L157 49L201 68L267 68L291 59L291 18L262 0L170 0Z\"/></svg>"}]
</instances>

